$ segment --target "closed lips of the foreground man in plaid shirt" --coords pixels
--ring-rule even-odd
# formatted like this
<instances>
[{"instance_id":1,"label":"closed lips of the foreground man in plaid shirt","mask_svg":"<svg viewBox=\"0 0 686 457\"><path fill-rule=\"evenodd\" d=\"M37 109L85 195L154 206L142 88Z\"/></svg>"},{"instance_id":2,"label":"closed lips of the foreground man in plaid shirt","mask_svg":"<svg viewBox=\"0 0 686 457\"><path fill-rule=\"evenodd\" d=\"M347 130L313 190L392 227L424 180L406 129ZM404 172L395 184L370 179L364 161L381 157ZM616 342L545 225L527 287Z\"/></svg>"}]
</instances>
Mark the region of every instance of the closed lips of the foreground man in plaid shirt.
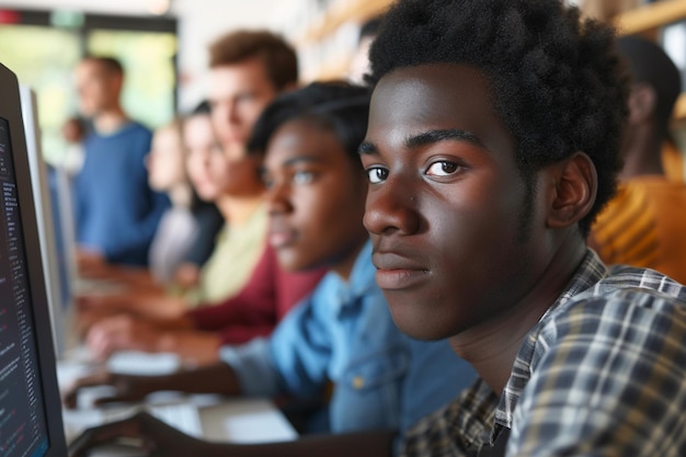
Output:
<instances>
[{"instance_id":1,"label":"closed lips of the foreground man in plaid shirt","mask_svg":"<svg viewBox=\"0 0 686 457\"><path fill-rule=\"evenodd\" d=\"M376 283L381 289L403 289L426 281L428 269L407 256L396 253L375 253L371 262L376 266Z\"/></svg>"}]
</instances>

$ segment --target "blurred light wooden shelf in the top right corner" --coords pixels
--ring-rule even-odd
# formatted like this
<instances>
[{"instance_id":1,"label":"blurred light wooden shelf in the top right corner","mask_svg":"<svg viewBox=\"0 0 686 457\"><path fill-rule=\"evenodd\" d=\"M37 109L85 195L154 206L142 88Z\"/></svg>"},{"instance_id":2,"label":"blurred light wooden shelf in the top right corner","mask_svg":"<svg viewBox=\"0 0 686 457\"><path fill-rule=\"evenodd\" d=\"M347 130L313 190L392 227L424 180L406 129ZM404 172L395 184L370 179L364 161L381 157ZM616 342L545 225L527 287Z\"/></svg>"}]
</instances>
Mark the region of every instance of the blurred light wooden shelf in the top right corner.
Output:
<instances>
[{"instance_id":1,"label":"blurred light wooden shelf in the top right corner","mask_svg":"<svg viewBox=\"0 0 686 457\"><path fill-rule=\"evenodd\" d=\"M661 0L626 11L615 19L617 32L636 35L686 19L686 0Z\"/></svg>"}]
</instances>

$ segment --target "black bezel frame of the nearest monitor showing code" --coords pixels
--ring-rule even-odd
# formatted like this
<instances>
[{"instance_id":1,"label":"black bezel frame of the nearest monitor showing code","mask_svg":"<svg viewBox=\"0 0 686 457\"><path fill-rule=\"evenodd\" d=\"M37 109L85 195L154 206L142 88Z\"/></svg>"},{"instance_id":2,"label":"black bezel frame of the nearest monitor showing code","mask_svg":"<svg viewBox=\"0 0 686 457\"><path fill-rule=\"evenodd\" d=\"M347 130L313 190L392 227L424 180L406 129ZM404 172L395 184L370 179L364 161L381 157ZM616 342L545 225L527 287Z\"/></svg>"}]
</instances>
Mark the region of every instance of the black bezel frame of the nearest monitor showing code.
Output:
<instances>
[{"instance_id":1,"label":"black bezel frame of the nearest monitor showing code","mask_svg":"<svg viewBox=\"0 0 686 457\"><path fill-rule=\"evenodd\" d=\"M33 304L32 309L37 344L36 353L38 369L41 370L39 378L43 387L43 402L49 442L45 456L64 457L67 455L67 444L61 416L61 399L57 385L57 365L38 243L38 228L24 137L19 81L14 72L2 64L0 64L0 117L7 119L10 126L10 142L24 236L26 272Z\"/></svg>"}]
</instances>

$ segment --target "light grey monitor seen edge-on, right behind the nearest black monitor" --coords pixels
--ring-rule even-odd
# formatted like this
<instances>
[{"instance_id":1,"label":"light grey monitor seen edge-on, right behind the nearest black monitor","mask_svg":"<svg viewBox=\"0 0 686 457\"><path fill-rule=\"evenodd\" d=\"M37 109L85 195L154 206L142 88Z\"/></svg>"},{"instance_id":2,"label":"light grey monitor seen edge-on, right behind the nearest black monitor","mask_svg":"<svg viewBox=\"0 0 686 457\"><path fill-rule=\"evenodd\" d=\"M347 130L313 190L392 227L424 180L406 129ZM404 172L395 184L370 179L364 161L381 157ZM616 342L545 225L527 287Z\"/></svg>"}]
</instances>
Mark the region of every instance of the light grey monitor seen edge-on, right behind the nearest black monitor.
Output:
<instances>
[{"instance_id":1,"label":"light grey monitor seen edge-on, right behind the nearest black monitor","mask_svg":"<svg viewBox=\"0 0 686 457\"><path fill-rule=\"evenodd\" d=\"M45 274L45 289L47 292L47 304L50 310L50 321L53 323L55 351L59 358L67 349L67 334L70 333L67 330L67 315L70 311L69 301L71 297L68 290L62 290L67 282L62 281L60 276L66 276L65 270L67 269L67 263L62 262L65 255L58 250L55 236L59 230L56 230L47 167L41 147L41 127L38 125L36 94L31 87L26 84L20 84L19 91L22 103L24 134L26 136L31 184L36 208L41 259L43 260L43 273Z\"/></svg>"}]
</instances>

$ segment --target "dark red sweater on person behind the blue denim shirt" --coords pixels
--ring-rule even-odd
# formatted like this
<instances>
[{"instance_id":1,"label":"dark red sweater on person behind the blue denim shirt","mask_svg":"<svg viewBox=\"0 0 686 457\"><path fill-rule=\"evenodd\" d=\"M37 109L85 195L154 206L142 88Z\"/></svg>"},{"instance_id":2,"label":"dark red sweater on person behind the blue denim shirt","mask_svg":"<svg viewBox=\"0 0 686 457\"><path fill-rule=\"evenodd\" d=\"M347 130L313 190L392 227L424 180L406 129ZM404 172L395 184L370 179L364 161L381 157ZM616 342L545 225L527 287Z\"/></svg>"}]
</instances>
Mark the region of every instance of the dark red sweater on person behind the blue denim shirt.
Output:
<instances>
[{"instance_id":1,"label":"dark red sweater on person behind the blue denim shirt","mask_svg":"<svg viewBox=\"0 0 686 457\"><path fill-rule=\"evenodd\" d=\"M221 334L221 344L240 344L267 336L286 313L309 295L324 269L291 273L283 270L267 247L241 292L217 305L186 312L197 330Z\"/></svg>"}]
</instances>

